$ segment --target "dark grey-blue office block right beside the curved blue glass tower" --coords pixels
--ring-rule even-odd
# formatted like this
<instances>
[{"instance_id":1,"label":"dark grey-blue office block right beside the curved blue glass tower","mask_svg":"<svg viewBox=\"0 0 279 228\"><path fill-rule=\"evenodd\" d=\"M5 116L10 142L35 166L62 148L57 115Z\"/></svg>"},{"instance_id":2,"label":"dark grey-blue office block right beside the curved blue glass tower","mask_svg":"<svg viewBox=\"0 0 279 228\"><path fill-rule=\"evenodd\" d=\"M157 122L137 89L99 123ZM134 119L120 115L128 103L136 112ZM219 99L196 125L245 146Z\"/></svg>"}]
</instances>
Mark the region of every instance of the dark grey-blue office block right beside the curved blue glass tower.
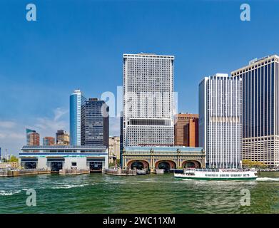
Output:
<instances>
[{"instance_id":1,"label":"dark grey-blue office block right beside the curved blue glass tower","mask_svg":"<svg viewBox=\"0 0 279 228\"><path fill-rule=\"evenodd\" d=\"M108 105L103 100L89 98L86 101L85 145L108 147Z\"/></svg>"}]
</instances>

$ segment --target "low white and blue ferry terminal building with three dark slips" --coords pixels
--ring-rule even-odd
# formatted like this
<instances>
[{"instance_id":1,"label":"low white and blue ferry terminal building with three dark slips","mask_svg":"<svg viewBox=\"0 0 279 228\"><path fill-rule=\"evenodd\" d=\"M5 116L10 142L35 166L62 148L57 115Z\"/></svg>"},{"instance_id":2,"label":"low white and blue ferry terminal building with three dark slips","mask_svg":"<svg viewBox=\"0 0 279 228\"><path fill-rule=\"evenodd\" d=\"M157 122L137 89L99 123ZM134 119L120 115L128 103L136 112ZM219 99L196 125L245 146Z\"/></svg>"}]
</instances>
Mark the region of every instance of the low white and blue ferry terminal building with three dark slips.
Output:
<instances>
[{"instance_id":1,"label":"low white and blue ferry terminal building with three dark slips","mask_svg":"<svg viewBox=\"0 0 279 228\"><path fill-rule=\"evenodd\" d=\"M108 168L105 146L24 146L19 153L19 165L25 169L45 169L59 172L76 168L101 172Z\"/></svg>"}]
</instances>

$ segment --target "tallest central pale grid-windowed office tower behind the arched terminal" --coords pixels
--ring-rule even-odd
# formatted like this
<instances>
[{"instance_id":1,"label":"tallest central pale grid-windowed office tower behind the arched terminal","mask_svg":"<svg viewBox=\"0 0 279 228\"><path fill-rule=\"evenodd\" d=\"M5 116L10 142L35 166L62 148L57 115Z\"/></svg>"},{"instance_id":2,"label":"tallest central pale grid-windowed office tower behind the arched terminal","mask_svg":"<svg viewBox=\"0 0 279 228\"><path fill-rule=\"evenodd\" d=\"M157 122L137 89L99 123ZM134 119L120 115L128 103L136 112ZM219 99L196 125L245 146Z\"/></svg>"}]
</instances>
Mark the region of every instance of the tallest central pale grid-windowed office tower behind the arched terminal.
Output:
<instances>
[{"instance_id":1,"label":"tallest central pale grid-windowed office tower behind the arched terminal","mask_svg":"<svg viewBox=\"0 0 279 228\"><path fill-rule=\"evenodd\" d=\"M173 145L174 56L123 54L123 146Z\"/></svg>"}]
</instances>

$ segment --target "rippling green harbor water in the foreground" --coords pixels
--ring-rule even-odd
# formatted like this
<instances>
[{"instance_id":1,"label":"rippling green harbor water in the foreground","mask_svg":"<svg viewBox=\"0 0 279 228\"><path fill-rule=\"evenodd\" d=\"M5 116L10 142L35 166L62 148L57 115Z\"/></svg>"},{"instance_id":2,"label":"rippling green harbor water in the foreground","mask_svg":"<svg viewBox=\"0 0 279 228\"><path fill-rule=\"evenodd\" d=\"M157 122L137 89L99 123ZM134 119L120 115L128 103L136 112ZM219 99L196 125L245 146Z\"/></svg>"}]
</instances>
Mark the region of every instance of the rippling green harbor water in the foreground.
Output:
<instances>
[{"instance_id":1,"label":"rippling green harbor water in the foreground","mask_svg":"<svg viewBox=\"0 0 279 228\"><path fill-rule=\"evenodd\" d=\"M26 190L36 190L36 207ZM250 191L250 206L240 206ZM279 172L255 181L175 180L172 174L0 178L0 213L279 213Z\"/></svg>"}]
</instances>

